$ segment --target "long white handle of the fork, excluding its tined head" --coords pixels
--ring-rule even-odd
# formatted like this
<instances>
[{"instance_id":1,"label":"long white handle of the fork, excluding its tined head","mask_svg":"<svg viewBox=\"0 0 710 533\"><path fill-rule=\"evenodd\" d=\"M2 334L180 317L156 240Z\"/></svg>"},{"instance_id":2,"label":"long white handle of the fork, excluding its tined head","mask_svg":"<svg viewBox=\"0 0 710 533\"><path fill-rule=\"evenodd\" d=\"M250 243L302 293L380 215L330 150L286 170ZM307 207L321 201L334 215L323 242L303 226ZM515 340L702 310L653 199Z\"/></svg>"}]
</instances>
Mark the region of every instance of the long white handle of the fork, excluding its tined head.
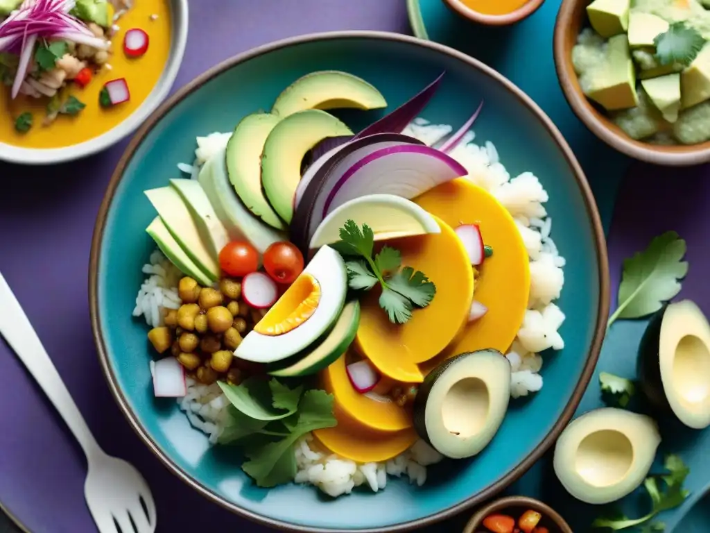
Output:
<instances>
[{"instance_id":1,"label":"long white handle of the fork, excluding its tined head","mask_svg":"<svg viewBox=\"0 0 710 533\"><path fill-rule=\"evenodd\" d=\"M0 334L16 352L79 441L87 461L102 453L77 404L10 286L0 273Z\"/></svg>"}]
</instances>

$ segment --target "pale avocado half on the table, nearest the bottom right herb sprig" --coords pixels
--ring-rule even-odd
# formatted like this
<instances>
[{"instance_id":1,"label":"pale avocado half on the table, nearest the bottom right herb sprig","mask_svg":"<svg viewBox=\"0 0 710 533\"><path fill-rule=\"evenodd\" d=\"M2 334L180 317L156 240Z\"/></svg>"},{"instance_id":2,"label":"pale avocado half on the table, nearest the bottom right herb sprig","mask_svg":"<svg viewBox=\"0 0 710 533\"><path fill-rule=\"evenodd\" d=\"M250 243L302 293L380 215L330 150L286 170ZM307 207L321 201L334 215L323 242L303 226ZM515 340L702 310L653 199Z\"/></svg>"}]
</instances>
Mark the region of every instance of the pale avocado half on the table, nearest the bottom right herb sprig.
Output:
<instances>
[{"instance_id":1,"label":"pale avocado half on the table, nearest the bottom right herb sprig","mask_svg":"<svg viewBox=\"0 0 710 533\"><path fill-rule=\"evenodd\" d=\"M643 483L660 442L650 416L615 407L594 409L562 431L555 445L555 474L582 502L621 500Z\"/></svg>"}]
</instances>

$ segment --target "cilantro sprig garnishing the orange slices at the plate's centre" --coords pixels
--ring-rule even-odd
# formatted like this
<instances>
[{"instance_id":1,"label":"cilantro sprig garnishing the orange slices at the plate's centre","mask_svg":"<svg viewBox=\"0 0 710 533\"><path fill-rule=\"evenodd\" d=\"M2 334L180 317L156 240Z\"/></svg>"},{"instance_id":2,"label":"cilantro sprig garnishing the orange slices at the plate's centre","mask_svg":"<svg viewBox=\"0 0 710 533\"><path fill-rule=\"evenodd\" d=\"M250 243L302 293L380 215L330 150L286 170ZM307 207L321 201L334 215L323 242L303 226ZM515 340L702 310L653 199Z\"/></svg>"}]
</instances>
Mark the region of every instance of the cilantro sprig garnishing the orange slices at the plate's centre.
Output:
<instances>
[{"instance_id":1,"label":"cilantro sprig garnishing the orange slices at the plate's centre","mask_svg":"<svg viewBox=\"0 0 710 533\"><path fill-rule=\"evenodd\" d=\"M344 257L361 257L346 261L348 284L356 291L369 291L377 284L382 288L379 303L390 322L403 324L412 318L416 307L428 306L437 288L421 271L411 266L400 270L402 254L398 249L383 246L374 255L375 235L366 224L362 229L348 220L340 228L340 241L333 244Z\"/></svg>"}]
</instances>

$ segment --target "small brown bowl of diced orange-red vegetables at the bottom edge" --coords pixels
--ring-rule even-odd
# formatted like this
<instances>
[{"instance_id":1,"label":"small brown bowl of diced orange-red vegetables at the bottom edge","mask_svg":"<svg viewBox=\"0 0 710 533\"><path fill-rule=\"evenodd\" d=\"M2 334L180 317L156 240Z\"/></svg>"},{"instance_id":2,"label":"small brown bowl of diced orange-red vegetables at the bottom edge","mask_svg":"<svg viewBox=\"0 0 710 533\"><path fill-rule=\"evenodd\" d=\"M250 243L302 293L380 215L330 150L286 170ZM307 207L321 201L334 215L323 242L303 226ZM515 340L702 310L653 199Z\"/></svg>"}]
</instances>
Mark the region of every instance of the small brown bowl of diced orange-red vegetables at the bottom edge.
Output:
<instances>
[{"instance_id":1,"label":"small brown bowl of diced orange-red vegetables at the bottom edge","mask_svg":"<svg viewBox=\"0 0 710 533\"><path fill-rule=\"evenodd\" d=\"M508 496L481 507L464 533L572 533L572 528L540 500Z\"/></svg>"}]
</instances>

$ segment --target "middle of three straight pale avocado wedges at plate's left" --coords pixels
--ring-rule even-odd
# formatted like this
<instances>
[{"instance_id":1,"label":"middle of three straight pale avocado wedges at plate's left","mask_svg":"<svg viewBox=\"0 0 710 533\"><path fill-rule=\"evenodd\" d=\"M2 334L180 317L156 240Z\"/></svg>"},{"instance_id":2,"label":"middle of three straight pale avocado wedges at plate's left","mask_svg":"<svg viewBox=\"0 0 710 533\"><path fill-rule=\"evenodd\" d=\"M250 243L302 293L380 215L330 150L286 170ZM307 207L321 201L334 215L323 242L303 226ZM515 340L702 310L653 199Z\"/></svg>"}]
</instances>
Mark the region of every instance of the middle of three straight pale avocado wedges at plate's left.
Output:
<instances>
[{"instance_id":1,"label":"middle of three straight pale avocado wedges at plate's left","mask_svg":"<svg viewBox=\"0 0 710 533\"><path fill-rule=\"evenodd\" d=\"M185 250L200 270L212 281L219 279L219 264L217 259L209 253L207 245L200 237L195 220L192 219L190 210L182 201L178 191L173 187L161 187L144 191L151 200L153 207L158 211L158 215L165 222L165 227L180 243L180 247Z\"/></svg>"}]
</instances>

